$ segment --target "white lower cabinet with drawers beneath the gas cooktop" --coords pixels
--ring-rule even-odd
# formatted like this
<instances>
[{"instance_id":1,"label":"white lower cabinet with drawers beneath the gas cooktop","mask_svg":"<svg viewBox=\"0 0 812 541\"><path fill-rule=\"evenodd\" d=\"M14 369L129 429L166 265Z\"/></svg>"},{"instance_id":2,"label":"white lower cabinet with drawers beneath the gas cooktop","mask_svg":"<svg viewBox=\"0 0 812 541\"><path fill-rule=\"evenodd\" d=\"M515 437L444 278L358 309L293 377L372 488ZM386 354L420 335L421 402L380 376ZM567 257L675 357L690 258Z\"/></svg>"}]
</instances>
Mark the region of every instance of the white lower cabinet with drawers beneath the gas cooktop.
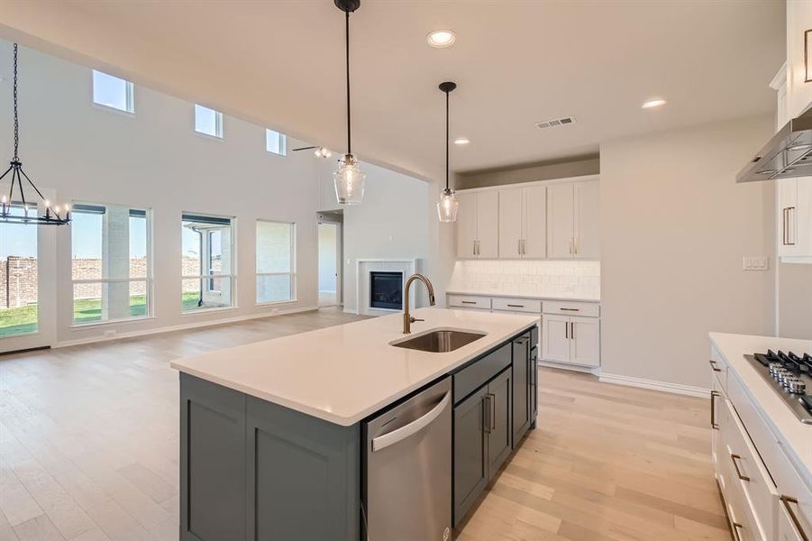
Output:
<instances>
[{"instance_id":1,"label":"white lower cabinet with drawers beneath the gas cooktop","mask_svg":"<svg viewBox=\"0 0 812 541\"><path fill-rule=\"evenodd\" d=\"M810 541L812 490L780 451L780 437L754 410L734 371L713 358L712 453L734 540Z\"/></svg>"}]
</instances>

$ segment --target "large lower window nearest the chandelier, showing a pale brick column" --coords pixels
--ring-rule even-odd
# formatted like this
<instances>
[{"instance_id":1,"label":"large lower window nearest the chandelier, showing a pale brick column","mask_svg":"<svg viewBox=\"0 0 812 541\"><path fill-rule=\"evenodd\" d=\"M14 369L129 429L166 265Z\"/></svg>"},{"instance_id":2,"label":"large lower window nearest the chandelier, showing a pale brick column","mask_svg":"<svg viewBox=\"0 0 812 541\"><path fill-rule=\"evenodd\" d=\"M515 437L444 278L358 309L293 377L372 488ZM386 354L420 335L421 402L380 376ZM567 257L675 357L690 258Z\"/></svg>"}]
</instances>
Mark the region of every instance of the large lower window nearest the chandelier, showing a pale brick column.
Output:
<instances>
[{"instance_id":1,"label":"large lower window nearest the chandelier, showing a pale brick column","mask_svg":"<svg viewBox=\"0 0 812 541\"><path fill-rule=\"evenodd\" d=\"M71 216L74 325L150 316L150 211L76 204Z\"/></svg>"}]
</instances>

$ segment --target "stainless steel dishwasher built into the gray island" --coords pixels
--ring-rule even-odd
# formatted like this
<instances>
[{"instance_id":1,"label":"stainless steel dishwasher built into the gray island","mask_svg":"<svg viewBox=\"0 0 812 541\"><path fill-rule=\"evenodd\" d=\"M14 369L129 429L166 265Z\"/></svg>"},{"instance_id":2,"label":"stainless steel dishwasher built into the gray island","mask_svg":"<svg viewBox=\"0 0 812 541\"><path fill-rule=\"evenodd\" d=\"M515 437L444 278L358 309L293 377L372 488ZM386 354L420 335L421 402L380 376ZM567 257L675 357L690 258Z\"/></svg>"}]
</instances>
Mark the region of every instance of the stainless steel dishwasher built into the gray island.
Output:
<instances>
[{"instance_id":1,"label":"stainless steel dishwasher built into the gray island","mask_svg":"<svg viewBox=\"0 0 812 541\"><path fill-rule=\"evenodd\" d=\"M367 541L452 537L452 379L363 425Z\"/></svg>"}]
</instances>

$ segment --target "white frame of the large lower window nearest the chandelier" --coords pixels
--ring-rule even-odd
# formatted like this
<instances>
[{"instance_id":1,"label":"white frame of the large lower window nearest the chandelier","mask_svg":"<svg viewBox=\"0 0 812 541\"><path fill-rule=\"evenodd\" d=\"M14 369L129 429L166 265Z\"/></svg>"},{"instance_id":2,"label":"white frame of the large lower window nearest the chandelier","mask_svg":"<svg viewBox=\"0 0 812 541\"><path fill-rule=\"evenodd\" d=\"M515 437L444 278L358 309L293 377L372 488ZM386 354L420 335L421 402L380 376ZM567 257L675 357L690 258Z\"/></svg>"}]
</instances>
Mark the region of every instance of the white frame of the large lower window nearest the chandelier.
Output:
<instances>
[{"instance_id":1,"label":"white frame of the large lower window nearest the chandelier","mask_svg":"<svg viewBox=\"0 0 812 541\"><path fill-rule=\"evenodd\" d=\"M103 105L104 106L104 105ZM119 111L119 109L115 109ZM118 203L89 203L85 200L81 201L71 201L70 204L70 212L73 215L76 215L77 212L81 213L81 210L77 210L77 206L104 206L105 210L109 206L120 206L123 208L127 208L128 210L137 210L142 211L146 218L146 227L147 232L145 235L145 241L147 243L146 251L144 252L144 257L146 261L146 276L140 278L88 278L88 279L74 279L73 278L73 229L71 225L70 230L70 248L68 249L68 266L70 267L70 326L71 328L86 328L92 326L104 326L104 325L115 325L121 323L132 323L138 321L144 321L147 319L152 319L155 317L153 314L153 307L155 306L155 277L152 269L152 250L153 250L153 243L152 243L152 209L150 207L140 207L140 206L130 206L130 205L120 205ZM117 317L115 319L100 319L98 321L88 321L86 323L77 323L76 318L73 316L74 307L76 303L75 298L75 291L74 288L77 285L82 284L114 284L114 283L132 283L132 282L144 282L144 315L143 316L130 316L130 317Z\"/></svg>"}]
</instances>

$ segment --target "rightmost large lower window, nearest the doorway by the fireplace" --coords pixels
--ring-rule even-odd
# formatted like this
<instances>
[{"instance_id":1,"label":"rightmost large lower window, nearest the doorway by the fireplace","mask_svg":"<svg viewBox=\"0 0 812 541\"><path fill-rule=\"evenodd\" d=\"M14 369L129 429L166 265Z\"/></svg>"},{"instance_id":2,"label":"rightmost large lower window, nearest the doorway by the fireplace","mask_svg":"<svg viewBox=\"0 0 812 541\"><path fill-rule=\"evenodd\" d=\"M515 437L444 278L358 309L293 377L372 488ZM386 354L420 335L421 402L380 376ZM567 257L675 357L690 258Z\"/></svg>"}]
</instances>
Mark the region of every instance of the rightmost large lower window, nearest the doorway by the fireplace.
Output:
<instances>
[{"instance_id":1,"label":"rightmost large lower window, nearest the doorway by the fireplace","mask_svg":"<svg viewBox=\"0 0 812 541\"><path fill-rule=\"evenodd\" d=\"M296 224L257 220L257 303L296 300Z\"/></svg>"}]
</instances>

